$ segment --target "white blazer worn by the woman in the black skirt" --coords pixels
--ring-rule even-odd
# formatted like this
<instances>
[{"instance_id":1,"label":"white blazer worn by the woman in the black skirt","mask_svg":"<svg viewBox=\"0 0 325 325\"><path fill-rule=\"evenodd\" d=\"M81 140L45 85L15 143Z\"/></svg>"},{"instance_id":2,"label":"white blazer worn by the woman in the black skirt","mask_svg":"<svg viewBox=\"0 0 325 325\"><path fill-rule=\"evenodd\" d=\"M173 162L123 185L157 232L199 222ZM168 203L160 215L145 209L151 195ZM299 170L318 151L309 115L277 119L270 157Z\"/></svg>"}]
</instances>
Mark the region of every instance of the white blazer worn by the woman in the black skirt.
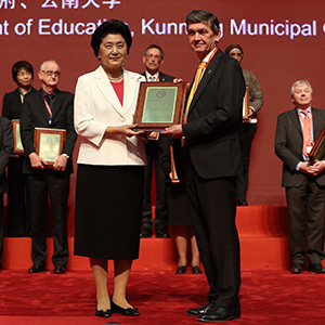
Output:
<instances>
[{"instance_id":1,"label":"white blazer worn by the woman in the black skirt","mask_svg":"<svg viewBox=\"0 0 325 325\"><path fill-rule=\"evenodd\" d=\"M139 87L145 78L123 69L121 105L102 66L78 78L75 93L75 129L82 136L78 164L145 165L140 136L105 138L106 127L132 125Z\"/></svg>"}]
</instances>

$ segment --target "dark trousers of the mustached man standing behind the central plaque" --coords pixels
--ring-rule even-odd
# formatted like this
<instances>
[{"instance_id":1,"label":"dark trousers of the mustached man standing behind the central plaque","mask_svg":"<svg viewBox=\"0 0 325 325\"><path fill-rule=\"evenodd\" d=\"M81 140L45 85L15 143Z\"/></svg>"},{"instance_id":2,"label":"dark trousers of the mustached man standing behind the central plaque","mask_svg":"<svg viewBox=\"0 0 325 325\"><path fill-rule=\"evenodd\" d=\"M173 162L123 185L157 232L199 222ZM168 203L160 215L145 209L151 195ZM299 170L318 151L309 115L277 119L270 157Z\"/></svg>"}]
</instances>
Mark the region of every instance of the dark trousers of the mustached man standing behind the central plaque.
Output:
<instances>
[{"instance_id":1,"label":"dark trousers of the mustached man standing behind the central plaque","mask_svg":"<svg viewBox=\"0 0 325 325\"><path fill-rule=\"evenodd\" d=\"M153 167L155 165L156 176L156 211L155 211L155 226L156 230L165 230L168 227L167 220L167 202L166 202L166 174L161 169L160 156L161 150L158 141L150 140L145 144L145 153L147 165L144 169L144 196L143 196L143 213L142 224L148 229L153 227L153 213L152 213L152 178Z\"/></svg>"}]
</instances>

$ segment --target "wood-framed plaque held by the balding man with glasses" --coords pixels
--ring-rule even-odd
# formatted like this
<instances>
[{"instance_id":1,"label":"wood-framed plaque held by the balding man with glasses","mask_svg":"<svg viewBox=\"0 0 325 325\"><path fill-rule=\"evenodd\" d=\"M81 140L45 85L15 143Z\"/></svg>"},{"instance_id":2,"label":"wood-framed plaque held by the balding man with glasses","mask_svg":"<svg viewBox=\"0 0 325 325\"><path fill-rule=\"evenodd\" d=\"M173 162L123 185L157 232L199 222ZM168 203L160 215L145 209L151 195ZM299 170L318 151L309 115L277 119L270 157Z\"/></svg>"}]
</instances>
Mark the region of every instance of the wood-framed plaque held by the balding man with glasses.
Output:
<instances>
[{"instance_id":1,"label":"wood-framed plaque held by the balding man with glasses","mask_svg":"<svg viewBox=\"0 0 325 325\"><path fill-rule=\"evenodd\" d=\"M66 130L35 128L34 146L36 153L53 168L54 161L61 155L65 142Z\"/></svg>"}]
</instances>

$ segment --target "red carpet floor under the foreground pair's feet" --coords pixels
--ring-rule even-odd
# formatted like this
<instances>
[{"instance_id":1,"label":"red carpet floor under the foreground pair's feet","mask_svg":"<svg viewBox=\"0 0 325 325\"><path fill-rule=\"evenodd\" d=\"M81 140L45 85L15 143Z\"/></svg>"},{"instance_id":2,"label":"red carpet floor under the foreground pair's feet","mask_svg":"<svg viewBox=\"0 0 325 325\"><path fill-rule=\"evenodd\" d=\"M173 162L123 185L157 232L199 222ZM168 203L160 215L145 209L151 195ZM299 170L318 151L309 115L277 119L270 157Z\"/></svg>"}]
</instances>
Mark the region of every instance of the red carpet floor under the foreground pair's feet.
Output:
<instances>
[{"instance_id":1,"label":"red carpet floor under the foreground pair's feet","mask_svg":"<svg viewBox=\"0 0 325 325\"><path fill-rule=\"evenodd\" d=\"M109 278L112 288L112 272ZM243 272L242 318L229 324L324 324L324 288L325 274ZM140 317L114 314L100 318L94 316L95 290L90 271L54 275L5 270L0 274L0 324L202 324L186 316L185 311L205 304L207 289L204 275L132 272L128 300L140 309Z\"/></svg>"}]
</instances>

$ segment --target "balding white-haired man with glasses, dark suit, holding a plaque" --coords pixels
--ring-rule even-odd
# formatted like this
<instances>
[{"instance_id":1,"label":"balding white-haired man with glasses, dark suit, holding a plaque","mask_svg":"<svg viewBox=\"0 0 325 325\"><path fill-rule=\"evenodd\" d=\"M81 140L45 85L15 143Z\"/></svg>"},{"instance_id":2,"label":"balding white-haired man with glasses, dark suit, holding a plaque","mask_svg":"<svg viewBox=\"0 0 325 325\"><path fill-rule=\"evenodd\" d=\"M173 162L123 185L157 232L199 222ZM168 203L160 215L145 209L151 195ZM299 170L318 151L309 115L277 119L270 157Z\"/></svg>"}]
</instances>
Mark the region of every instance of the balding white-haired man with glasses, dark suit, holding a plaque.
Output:
<instances>
[{"instance_id":1,"label":"balding white-haired man with glasses, dark suit, holding a plaque","mask_svg":"<svg viewBox=\"0 0 325 325\"><path fill-rule=\"evenodd\" d=\"M60 76L61 69L56 62L46 61L38 73L42 88L26 96L21 114L21 134L25 150L23 172L26 173L27 203L31 216L32 266L28 273L47 270L48 194L53 216L54 273L64 273L68 261L66 214L73 172L72 155L77 134L74 129L74 95L57 89ZM49 168L48 162L36 153L36 127L66 130L63 150L53 168Z\"/></svg>"}]
</instances>

